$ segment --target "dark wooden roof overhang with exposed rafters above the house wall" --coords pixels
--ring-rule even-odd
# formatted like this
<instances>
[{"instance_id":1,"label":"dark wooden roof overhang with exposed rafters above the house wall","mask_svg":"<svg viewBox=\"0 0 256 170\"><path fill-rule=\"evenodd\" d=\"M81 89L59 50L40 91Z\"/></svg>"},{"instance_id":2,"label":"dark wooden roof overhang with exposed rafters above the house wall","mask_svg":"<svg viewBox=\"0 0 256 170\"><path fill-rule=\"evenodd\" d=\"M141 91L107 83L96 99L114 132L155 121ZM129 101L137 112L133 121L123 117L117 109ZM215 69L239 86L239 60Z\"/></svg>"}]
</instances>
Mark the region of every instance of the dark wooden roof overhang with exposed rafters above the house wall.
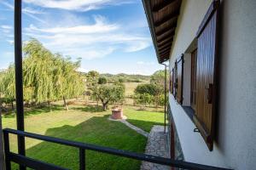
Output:
<instances>
[{"instance_id":1,"label":"dark wooden roof overhang with exposed rafters above the house wall","mask_svg":"<svg viewBox=\"0 0 256 170\"><path fill-rule=\"evenodd\" d=\"M143 0L159 63L169 59L182 0Z\"/></svg>"}]
</instances>

